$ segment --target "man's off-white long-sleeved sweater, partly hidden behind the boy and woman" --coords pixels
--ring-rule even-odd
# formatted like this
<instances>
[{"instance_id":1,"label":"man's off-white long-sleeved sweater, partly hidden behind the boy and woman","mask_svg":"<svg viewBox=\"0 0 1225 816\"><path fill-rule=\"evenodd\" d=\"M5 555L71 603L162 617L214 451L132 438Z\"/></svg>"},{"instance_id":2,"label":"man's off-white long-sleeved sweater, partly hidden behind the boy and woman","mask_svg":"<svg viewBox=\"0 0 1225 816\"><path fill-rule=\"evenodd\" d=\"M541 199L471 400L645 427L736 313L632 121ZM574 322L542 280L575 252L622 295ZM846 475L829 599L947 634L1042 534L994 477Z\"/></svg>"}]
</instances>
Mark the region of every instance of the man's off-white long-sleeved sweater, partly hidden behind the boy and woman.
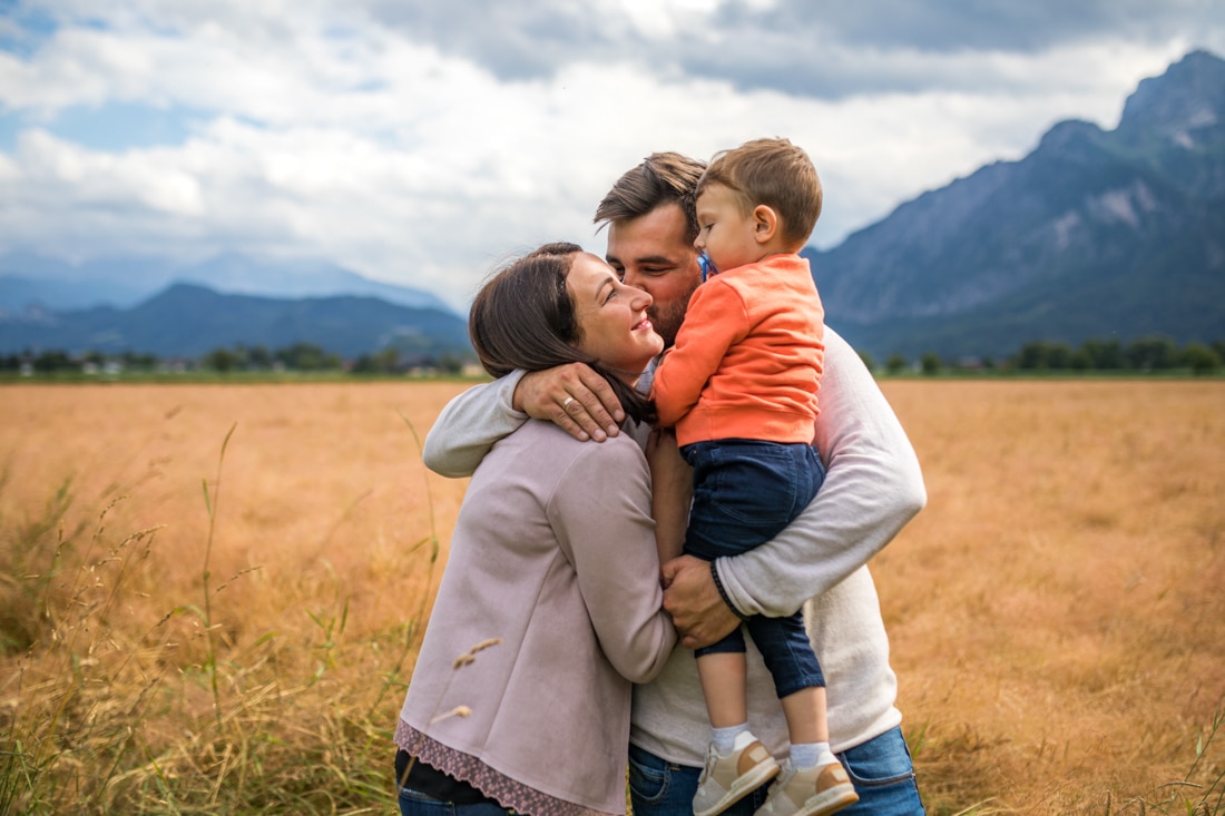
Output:
<instances>
[{"instance_id":1,"label":"man's off-white long-sleeved sweater, partly hidden behind the boy and woman","mask_svg":"<svg viewBox=\"0 0 1225 816\"><path fill-rule=\"evenodd\" d=\"M519 374L469 388L439 415L425 464L467 477L500 437L527 420L511 408ZM594 445L595 442L589 442ZM902 722L897 676L867 561L926 504L919 461L897 415L854 349L826 328L826 370L813 444L827 467L816 499L774 540L718 561L731 603L746 615L789 615L801 606L826 675L835 752ZM786 723L774 685L750 642L748 723L780 758ZM665 760L699 767L710 725L691 651L636 686L630 741Z\"/></svg>"}]
</instances>

